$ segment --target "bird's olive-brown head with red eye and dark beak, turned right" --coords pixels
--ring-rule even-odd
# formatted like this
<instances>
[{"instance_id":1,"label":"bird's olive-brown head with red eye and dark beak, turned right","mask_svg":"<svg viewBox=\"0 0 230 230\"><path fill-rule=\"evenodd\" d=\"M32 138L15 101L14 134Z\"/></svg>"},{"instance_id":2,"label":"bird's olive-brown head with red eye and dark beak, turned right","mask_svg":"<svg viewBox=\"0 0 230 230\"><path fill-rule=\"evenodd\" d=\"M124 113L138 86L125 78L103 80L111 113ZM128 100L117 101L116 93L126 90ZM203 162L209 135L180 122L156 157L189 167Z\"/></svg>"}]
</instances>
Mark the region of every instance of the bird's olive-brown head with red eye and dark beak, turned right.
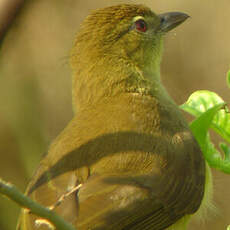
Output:
<instances>
[{"instance_id":1,"label":"bird's olive-brown head with red eye and dark beak, turned right","mask_svg":"<svg viewBox=\"0 0 230 230\"><path fill-rule=\"evenodd\" d=\"M74 104L123 92L149 93L159 80L163 35L187 18L179 12L157 15L133 4L92 12L71 55Z\"/></svg>"}]
</instances>

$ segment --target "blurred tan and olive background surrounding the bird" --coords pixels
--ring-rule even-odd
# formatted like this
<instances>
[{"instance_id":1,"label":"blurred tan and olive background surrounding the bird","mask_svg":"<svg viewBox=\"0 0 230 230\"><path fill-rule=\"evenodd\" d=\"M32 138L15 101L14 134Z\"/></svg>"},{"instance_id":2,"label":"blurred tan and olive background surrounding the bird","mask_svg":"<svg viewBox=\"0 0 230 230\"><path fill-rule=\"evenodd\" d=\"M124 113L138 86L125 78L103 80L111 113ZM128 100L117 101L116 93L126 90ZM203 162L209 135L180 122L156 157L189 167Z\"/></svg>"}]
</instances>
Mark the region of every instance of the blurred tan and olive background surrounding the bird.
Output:
<instances>
[{"instance_id":1,"label":"blurred tan and olive background surrounding the bird","mask_svg":"<svg viewBox=\"0 0 230 230\"><path fill-rule=\"evenodd\" d=\"M230 101L229 0L26 1L5 36L1 34L0 49L0 177L21 190L72 117L68 59L81 21L91 9L118 3L144 3L157 13L188 13L191 18L165 39L163 82L178 104L200 89ZM213 177L218 213L209 213L190 230L225 230L230 224L230 175L213 170ZM13 230L18 214L19 207L0 196L0 229Z\"/></svg>"}]
</instances>

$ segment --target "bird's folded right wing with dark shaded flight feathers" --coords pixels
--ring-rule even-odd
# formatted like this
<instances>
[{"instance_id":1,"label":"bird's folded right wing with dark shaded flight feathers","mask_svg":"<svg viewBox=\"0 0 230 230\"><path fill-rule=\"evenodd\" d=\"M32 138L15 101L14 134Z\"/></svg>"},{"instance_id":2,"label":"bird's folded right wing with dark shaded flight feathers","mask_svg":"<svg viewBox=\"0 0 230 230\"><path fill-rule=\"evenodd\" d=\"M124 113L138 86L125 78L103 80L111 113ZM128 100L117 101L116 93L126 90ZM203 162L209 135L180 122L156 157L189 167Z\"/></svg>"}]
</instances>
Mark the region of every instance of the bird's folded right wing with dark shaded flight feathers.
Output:
<instances>
[{"instance_id":1,"label":"bird's folded right wing with dark shaded flight feathers","mask_svg":"<svg viewBox=\"0 0 230 230\"><path fill-rule=\"evenodd\" d=\"M205 165L194 139L156 145L154 151L170 156L160 173L89 177L78 193L78 229L161 230L197 211Z\"/></svg>"}]
</instances>

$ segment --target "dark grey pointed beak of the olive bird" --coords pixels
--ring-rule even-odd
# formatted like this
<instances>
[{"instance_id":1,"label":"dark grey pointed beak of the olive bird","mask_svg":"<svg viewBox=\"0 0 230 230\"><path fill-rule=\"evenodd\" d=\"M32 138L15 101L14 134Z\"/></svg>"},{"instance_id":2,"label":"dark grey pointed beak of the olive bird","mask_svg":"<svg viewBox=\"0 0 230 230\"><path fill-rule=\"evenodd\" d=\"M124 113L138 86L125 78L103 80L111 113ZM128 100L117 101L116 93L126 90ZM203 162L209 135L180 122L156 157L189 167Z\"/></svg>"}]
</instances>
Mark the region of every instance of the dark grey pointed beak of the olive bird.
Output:
<instances>
[{"instance_id":1,"label":"dark grey pointed beak of the olive bird","mask_svg":"<svg viewBox=\"0 0 230 230\"><path fill-rule=\"evenodd\" d=\"M168 12L159 14L158 17L160 18L159 31L168 32L189 18L189 15L181 12Z\"/></svg>"}]
</instances>

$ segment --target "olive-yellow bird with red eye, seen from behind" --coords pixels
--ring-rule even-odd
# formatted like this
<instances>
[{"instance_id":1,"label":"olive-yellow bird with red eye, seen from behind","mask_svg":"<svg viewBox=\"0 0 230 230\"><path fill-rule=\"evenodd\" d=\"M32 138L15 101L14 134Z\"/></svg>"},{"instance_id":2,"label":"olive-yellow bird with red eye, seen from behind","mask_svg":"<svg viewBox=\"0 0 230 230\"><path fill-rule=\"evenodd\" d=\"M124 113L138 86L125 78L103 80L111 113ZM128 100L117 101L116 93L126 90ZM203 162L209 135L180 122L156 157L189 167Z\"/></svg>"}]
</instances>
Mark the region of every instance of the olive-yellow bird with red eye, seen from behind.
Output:
<instances>
[{"instance_id":1,"label":"olive-yellow bird with red eye, seen from behind","mask_svg":"<svg viewBox=\"0 0 230 230\"><path fill-rule=\"evenodd\" d=\"M209 167L160 78L163 39L188 17L139 4L86 17L70 55L73 118L26 195L77 230L185 230L205 212ZM18 229L49 225L23 209Z\"/></svg>"}]
</instances>

